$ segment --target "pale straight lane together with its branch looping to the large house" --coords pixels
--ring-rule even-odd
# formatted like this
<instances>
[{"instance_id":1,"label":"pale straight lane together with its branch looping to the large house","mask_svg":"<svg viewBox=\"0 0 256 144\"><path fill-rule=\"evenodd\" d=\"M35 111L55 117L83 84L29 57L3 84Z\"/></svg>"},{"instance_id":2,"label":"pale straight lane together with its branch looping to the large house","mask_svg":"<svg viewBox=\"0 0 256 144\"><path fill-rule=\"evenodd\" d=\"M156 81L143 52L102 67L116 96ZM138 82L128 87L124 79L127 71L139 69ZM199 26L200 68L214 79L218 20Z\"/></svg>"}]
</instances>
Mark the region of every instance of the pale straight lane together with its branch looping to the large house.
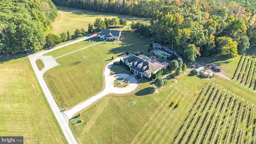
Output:
<instances>
[{"instance_id":1,"label":"pale straight lane together with its branch looping to the large house","mask_svg":"<svg viewBox=\"0 0 256 144\"><path fill-rule=\"evenodd\" d=\"M40 70L38 69L37 65L36 65L36 60L39 58L42 58L42 55L59 49L59 48L63 48L65 46L74 44L76 42L81 42L83 40L87 40L89 38L92 38L93 36L96 35L92 35L89 37L84 37L81 38L79 40L70 42L68 44L64 44L62 46L58 46L56 48L53 48L51 50L45 50L43 52L37 52L34 54L28 54L28 58L30 60L31 66L36 74L36 78L38 79L38 82L42 88L42 90L44 91L44 94L46 96L46 99L48 100L48 103L52 109L52 112L54 113L54 116L56 117L58 123L60 124L60 127L62 129L62 132L64 134L64 136L66 137L66 140L68 141L69 144L78 144L78 142L76 141L74 135L72 134L69 125L68 125L68 119L66 118L68 116L68 118L71 118L74 114L76 114L76 112L79 112L80 110L86 108L87 106L89 106L90 104L93 104L94 102L96 102L98 99L102 98L103 96L105 96L106 94L110 94L110 93L116 93L116 94L125 94L128 92L132 92L133 90L136 89L137 87L137 80L135 78L130 80L130 84L128 86L126 86L125 88L122 88L122 90L120 88L115 88L112 84L114 82L114 79L117 77L121 77L121 78L126 78L128 75L122 75L122 74L117 74L117 75L112 75L110 76L110 67L112 66L113 62L108 63L105 67L104 67L104 76L105 76L105 88L104 90L100 93L97 94L96 96L90 98L89 100L86 100L76 106L74 106L74 108L72 108L71 110L64 112L60 112L59 107L57 106L54 98L52 97L52 94L48 88L48 86L46 85L46 82L44 81L43 78L43 73L49 68L49 66L47 66L47 63L45 63L46 61L43 60L45 67L47 69L43 70L40 72ZM48 58L47 60L52 59L52 58ZM117 60L120 60L120 58L117 58ZM56 64L55 62L53 62L55 64L55 66L57 66L58 64Z\"/></svg>"}]
</instances>

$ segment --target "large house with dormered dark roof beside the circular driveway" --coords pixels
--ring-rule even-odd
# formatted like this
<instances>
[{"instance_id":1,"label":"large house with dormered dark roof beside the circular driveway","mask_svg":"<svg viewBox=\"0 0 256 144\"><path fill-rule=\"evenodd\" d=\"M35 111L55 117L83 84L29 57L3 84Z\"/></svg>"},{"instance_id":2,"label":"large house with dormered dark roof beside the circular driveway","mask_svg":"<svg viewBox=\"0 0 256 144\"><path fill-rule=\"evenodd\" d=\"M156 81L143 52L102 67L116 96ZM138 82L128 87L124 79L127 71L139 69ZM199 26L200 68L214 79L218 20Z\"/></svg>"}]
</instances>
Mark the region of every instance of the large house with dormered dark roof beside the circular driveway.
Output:
<instances>
[{"instance_id":1,"label":"large house with dormered dark roof beside the circular driveway","mask_svg":"<svg viewBox=\"0 0 256 144\"><path fill-rule=\"evenodd\" d=\"M151 63L150 59L146 60L134 54L129 54L127 58L124 58L124 62L134 74L147 78L150 78L152 73L156 74L156 72L164 67L162 64L158 64L157 62Z\"/></svg>"}]
</instances>

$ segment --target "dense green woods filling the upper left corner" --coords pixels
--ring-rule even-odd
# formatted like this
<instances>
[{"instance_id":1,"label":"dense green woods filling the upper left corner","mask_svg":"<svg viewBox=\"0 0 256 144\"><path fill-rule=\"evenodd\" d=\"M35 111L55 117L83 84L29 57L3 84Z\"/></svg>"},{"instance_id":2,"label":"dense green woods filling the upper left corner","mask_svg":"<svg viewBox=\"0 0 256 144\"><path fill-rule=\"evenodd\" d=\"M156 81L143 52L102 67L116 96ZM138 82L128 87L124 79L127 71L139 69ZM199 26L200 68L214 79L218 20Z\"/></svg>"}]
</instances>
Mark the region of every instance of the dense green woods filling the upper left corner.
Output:
<instances>
[{"instance_id":1,"label":"dense green woods filling the upper left corner","mask_svg":"<svg viewBox=\"0 0 256 144\"><path fill-rule=\"evenodd\" d=\"M42 50L45 32L57 16L51 0L0 1L0 52Z\"/></svg>"}]
</instances>

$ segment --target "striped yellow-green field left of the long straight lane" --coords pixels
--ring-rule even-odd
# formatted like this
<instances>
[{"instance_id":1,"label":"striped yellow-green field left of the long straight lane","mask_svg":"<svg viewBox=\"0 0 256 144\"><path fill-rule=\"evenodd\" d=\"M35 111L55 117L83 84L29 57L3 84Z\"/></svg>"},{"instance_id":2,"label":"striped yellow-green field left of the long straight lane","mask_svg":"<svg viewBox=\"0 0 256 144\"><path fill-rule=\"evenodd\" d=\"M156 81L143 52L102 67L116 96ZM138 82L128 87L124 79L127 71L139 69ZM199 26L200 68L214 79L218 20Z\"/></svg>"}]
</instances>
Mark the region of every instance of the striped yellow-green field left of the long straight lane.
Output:
<instances>
[{"instance_id":1,"label":"striped yellow-green field left of the long straight lane","mask_svg":"<svg viewBox=\"0 0 256 144\"><path fill-rule=\"evenodd\" d=\"M24 136L24 144L65 144L26 55L0 56L0 136Z\"/></svg>"}]
</instances>

